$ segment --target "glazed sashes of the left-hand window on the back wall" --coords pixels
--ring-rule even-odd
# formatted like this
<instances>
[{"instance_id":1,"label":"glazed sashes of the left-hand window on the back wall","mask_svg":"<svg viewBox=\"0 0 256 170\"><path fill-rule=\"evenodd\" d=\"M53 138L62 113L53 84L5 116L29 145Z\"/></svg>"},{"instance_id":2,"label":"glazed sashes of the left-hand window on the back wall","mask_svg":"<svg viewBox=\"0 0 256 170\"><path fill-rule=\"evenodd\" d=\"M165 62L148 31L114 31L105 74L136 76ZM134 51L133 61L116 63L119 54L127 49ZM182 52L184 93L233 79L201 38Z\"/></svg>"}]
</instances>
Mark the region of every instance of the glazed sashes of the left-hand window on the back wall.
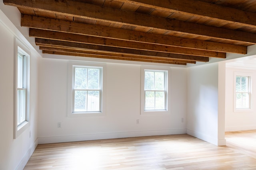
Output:
<instances>
[{"instance_id":1,"label":"glazed sashes of the left-hand window on the back wall","mask_svg":"<svg viewBox=\"0 0 256 170\"><path fill-rule=\"evenodd\" d=\"M102 67L73 66L72 113L102 112Z\"/></svg>"}]
</instances>

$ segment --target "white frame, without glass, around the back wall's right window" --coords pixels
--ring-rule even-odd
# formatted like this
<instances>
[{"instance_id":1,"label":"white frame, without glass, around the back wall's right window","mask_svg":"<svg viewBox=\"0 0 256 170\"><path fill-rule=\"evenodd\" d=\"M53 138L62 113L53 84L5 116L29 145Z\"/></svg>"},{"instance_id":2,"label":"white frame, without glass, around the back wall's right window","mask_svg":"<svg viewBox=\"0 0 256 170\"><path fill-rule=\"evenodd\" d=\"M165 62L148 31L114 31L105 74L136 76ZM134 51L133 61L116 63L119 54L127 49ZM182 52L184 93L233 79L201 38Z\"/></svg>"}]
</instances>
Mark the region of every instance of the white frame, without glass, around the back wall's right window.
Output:
<instances>
[{"instance_id":1,"label":"white frame, without glass, around the back wall's right window","mask_svg":"<svg viewBox=\"0 0 256 170\"><path fill-rule=\"evenodd\" d=\"M145 90L144 90L144 83L145 83L145 70L152 70L152 71L166 71L165 77L165 109L164 110L145 110ZM156 66L141 66L141 100L140 100L140 113L142 115L160 115L160 114L170 114L170 68L169 67L156 67Z\"/></svg>"}]
</instances>

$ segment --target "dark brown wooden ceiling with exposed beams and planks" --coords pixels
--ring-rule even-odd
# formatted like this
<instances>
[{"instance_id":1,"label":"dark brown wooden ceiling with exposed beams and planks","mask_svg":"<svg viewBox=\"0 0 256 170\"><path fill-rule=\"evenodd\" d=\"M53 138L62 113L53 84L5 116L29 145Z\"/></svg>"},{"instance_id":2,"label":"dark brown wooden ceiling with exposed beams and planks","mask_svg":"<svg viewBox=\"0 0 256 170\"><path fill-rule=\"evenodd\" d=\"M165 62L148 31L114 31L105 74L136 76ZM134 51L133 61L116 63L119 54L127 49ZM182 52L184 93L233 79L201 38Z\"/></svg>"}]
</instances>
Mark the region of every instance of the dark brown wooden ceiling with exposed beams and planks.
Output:
<instances>
[{"instance_id":1,"label":"dark brown wooden ceiling with exposed beams and planks","mask_svg":"<svg viewBox=\"0 0 256 170\"><path fill-rule=\"evenodd\" d=\"M255 12L203 0L4 4L18 7L21 25L48 54L186 65L224 59L226 53L246 54L247 46L256 44Z\"/></svg>"}]
</instances>

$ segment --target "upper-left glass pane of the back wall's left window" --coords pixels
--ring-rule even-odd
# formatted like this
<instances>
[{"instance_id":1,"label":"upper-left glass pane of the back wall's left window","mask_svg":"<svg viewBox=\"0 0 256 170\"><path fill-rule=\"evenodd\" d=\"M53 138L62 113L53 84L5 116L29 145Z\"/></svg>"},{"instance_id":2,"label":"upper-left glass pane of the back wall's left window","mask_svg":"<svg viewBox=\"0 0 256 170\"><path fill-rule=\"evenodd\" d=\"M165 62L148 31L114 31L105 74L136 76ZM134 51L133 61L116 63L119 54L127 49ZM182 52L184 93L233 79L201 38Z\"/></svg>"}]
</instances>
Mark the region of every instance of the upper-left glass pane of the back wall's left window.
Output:
<instances>
[{"instance_id":1,"label":"upper-left glass pane of the back wall's left window","mask_svg":"<svg viewBox=\"0 0 256 170\"><path fill-rule=\"evenodd\" d=\"M87 89L87 68L75 68L75 89Z\"/></svg>"}]
</instances>

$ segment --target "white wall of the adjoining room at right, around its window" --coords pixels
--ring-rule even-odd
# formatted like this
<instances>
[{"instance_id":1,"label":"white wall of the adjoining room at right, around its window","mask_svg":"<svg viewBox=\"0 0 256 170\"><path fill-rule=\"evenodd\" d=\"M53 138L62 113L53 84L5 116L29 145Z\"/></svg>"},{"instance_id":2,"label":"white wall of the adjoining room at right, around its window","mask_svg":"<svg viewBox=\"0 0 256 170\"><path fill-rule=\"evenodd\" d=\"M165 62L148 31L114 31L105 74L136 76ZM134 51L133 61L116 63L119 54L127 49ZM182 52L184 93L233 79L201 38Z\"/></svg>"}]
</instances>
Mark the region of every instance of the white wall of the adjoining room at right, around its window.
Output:
<instances>
[{"instance_id":1,"label":"white wall of the adjoining room at right, around its window","mask_svg":"<svg viewBox=\"0 0 256 170\"><path fill-rule=\"evenodd\" d=\"M234 72L247 72L252 74L252 110L234 112ZM256 70L226 68L226 114L225 131L243 131L256 129Z\"/></svg>"}]
</instances>

